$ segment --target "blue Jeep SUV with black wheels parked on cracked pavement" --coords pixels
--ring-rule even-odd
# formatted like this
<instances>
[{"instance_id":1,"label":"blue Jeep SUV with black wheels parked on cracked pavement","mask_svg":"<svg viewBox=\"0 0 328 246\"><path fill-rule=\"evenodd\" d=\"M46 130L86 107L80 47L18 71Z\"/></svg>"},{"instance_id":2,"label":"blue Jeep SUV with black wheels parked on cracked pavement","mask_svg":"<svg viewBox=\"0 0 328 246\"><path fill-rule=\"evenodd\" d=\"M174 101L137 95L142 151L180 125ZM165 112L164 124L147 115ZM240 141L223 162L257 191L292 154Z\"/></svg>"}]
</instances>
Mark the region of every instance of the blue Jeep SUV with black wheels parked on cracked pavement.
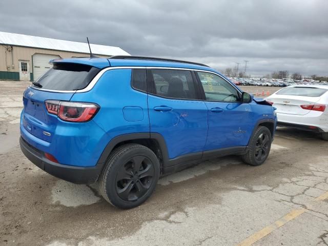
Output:
<instances>
[{"instance_id":1,"label":"blue Jeep SUV with black wheels parked on cracked pavement","mask_svg":"<svg viewBox=\"0 0 328 246\"><path fill-rule=\"evenodd\" d=\"M274 108L197 63L138 56L55 59L24 92L20 148L73 183L98 182L129 209L161 175L224 155L267 159Z\"/></svg>"}]
</instances>

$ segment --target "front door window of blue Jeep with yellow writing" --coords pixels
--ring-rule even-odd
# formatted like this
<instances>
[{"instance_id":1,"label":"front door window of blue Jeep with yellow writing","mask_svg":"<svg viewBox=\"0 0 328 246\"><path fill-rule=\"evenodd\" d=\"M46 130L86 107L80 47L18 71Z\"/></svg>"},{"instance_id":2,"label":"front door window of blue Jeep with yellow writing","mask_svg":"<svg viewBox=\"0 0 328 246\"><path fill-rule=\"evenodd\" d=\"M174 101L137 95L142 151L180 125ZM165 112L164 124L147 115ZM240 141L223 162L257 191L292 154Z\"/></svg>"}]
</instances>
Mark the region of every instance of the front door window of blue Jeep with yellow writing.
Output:
<instances>
[{"instance_id":1,"label":"front door window of blue Jeep with yellow writing","mask_svg":"<svg viewBox=\"0 0 328 246\"><path fill-rule=\"evenodd\" d=\"M237 90L220 76L207 72L197 72L197 74L207 100L239 101Z\"/></svg>"}]
</instances>

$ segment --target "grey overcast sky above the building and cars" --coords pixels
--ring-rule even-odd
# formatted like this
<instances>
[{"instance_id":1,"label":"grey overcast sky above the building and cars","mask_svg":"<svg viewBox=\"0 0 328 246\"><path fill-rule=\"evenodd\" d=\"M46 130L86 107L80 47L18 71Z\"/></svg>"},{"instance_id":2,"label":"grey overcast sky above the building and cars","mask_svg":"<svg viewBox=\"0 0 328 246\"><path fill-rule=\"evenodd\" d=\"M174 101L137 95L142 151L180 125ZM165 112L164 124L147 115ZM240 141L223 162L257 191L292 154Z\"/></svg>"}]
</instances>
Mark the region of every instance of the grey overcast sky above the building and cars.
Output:
<instances>
[{"instance_id":1,"label":"grey overcast sky above the building and cars","mask_svg":"<svg viewBox=\"0 0 328 246\"><path fill-rule=\"evenodd\" d=\"M37 3L38 2L38 3ZM0 2L0 31L118 46L132 55L328 75L328 0Z\"/></svg>"}]
</instances>

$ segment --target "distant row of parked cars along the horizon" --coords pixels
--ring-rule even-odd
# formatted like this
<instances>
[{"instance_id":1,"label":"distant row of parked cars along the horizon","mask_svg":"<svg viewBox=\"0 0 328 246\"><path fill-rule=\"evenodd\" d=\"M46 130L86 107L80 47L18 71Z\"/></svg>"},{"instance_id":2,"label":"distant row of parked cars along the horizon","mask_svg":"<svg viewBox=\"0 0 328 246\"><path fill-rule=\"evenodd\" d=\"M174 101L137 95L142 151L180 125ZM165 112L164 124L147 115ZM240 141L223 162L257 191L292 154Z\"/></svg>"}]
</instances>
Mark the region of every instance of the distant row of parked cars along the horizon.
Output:
<instances>
[{"instance_id":1,"label":"distant row of parked cars along the horizon","mask_svg":"<svg viewBox=\"0 0 328 246\"><path fill-rule=\"evenodd\" d=\"M293 79L267 79L267 78L229 78L237 86L275 86L286 87L294 85L328 85L326 81L303 81Z\"/></svg>"}]
</instances>

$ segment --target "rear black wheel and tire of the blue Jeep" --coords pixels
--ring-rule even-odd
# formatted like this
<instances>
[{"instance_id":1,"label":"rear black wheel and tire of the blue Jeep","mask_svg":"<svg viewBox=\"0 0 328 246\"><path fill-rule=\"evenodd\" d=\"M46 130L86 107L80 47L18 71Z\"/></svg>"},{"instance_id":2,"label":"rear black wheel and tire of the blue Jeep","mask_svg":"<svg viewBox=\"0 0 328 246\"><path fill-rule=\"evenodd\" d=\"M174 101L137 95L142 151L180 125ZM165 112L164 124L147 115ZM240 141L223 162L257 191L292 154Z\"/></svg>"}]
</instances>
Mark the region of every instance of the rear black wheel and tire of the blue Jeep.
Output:
<instances>
[{"instance_id":1,"label":"rear black wheel and tire of the blue Jeep","mask_svg":"<svg viewBox=\"0 0 328 246\"><path fill-rule=\"evenodd\" d=\"M109 156L100 174L99 191L113 206L131 209L151 196L159 173L153 151L138 144L123 145Z\"/></svg>"}]
</instances>

